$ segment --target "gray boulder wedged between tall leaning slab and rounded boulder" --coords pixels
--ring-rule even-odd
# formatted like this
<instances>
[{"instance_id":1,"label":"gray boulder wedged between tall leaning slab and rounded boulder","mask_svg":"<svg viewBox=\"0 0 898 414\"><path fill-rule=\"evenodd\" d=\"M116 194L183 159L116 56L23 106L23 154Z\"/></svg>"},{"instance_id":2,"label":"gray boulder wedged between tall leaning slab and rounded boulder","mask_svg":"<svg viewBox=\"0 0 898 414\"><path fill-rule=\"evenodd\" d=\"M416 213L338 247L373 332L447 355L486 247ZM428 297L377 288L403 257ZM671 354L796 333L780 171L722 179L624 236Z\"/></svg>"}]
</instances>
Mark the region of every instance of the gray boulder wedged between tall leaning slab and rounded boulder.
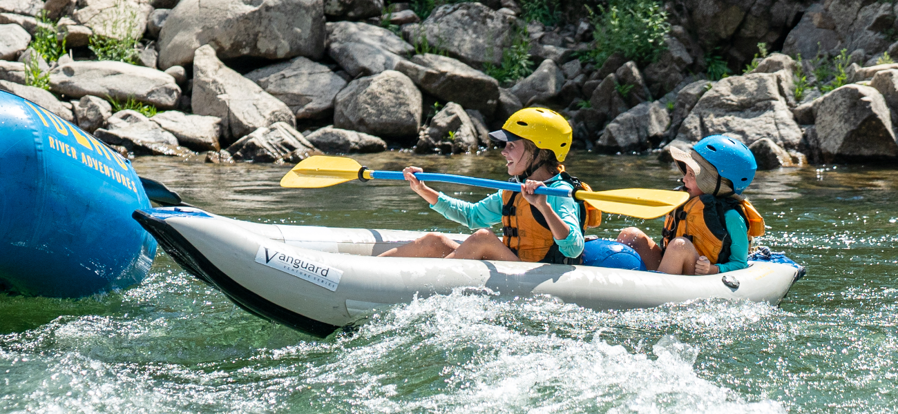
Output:
<instances>
[{"instance_id":1,"label":"gray boulder wedged between tall leaning slab and rounded boulder","mask_svg":"<svg viewBox=\"0 0 898 414\"><path fill-rule=\"evenodd\" d=\"M286 103L296 119L320 119L333 114L333 100L347 82L327 66L303 56L246 73L272 96Z\"/></svg>"}]
</instances>

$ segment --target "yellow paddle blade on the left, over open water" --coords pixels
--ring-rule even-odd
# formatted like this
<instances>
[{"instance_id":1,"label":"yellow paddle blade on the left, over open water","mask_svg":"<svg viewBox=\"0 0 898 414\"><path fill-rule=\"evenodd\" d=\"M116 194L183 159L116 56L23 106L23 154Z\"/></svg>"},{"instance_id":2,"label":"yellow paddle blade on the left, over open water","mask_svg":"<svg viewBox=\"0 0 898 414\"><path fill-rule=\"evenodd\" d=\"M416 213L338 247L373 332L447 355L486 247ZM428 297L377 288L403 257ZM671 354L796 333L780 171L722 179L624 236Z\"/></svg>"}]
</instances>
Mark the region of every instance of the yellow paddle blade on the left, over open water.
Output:
<instances>
[{"instance_id":1,"label":"yellow paddle blade on the left, over open water","mask_svg":"<svg viewBox=\"0 0 898 414\"><path fill-rule=\"evenodd\" d=\"M338 185L358 178L362 165L356 160L313 155L296 164L281 178L281 186L288 188L321 188Z\"/></svg>"}]
</instances>

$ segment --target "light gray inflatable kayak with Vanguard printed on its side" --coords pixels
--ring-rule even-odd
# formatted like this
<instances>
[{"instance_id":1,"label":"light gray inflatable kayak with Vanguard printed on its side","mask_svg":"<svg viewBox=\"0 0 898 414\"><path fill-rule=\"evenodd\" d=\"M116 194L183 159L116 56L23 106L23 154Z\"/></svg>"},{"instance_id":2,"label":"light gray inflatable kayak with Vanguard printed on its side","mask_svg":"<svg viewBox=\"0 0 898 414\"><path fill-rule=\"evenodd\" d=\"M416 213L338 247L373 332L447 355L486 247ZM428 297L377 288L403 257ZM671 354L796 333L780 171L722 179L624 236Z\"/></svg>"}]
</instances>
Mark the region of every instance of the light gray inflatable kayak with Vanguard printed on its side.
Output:
<instances>
[{"instance_id":1,"label":"light gray inflatable kayak with Vanguard printed on its side","mask_svg":"<svg viewBox=\"0 0 898 414\"><path fill-rule=\"evenodd\" d=\"M546 295L596 310L695 298L776 305L803 274L800 266L769 262L680 276L586 265L377 257L424 233L260 224L180 207L138 210L133 217L175 262L238 306L321 336L370 309L460 287L500 297Z\"/></svg>"}]
</instances>

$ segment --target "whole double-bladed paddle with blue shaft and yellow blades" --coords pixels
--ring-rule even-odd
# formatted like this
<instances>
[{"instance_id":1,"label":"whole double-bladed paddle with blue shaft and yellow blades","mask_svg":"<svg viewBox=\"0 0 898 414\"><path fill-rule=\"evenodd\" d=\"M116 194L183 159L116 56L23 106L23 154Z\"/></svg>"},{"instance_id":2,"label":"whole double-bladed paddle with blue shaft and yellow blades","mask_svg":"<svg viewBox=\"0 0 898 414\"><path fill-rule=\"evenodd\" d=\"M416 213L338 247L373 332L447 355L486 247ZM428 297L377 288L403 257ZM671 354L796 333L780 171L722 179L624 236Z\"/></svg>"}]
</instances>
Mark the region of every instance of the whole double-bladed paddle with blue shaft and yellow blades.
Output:
<instances>
[{"instance_id":1,"label":"whole double-bladed paddle with blue shaft and yellow blades","mask_svg":"<svg viewBox=\"0 0 898 414\"><path fill-rule=\"evenodd\" d=\"M521 191L519 183L497 181L486 178L455 176L452 174L416 173L421 181L435 181L461 185L474 185L497 190ZM286 173L280 185L288 188L321 188L338 185L352 180L371 179L404 180L401 171L376 171L363 167L356 160L342 157L314 155ZM627 188L611 191L569 191L563 188L539 187L536 194L573 197L592 204L595 208L610 213L623 214L638 219L661 217L689 200L689 194L682 191Z\"/></svg>"}]
</instances>

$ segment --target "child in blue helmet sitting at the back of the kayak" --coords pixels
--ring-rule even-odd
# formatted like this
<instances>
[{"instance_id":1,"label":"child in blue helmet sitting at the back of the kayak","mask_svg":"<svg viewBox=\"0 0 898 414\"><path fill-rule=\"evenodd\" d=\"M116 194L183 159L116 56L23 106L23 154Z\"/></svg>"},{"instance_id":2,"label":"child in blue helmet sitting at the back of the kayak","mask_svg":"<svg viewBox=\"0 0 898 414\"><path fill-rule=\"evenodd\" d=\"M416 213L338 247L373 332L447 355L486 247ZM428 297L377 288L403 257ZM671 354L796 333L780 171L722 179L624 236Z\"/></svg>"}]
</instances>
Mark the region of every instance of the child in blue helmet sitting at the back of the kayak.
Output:
<instances>
[{"instance_id":1,"label":"child in blue helmet sitting at the back of the kayak","mask_svg":"<svg viewBox=\"0 0 898 414\"><path fill-rule=\"evenodd\" d=\"M618 241L632 246L648 270L715 274L748 267L749 237L763 234L763 219L742 196L757 169L752 151L724 135L697 142L690 152L671 147L688 202L665 218L661 246L636 228Z\"/></svg>"}]
</instances>

